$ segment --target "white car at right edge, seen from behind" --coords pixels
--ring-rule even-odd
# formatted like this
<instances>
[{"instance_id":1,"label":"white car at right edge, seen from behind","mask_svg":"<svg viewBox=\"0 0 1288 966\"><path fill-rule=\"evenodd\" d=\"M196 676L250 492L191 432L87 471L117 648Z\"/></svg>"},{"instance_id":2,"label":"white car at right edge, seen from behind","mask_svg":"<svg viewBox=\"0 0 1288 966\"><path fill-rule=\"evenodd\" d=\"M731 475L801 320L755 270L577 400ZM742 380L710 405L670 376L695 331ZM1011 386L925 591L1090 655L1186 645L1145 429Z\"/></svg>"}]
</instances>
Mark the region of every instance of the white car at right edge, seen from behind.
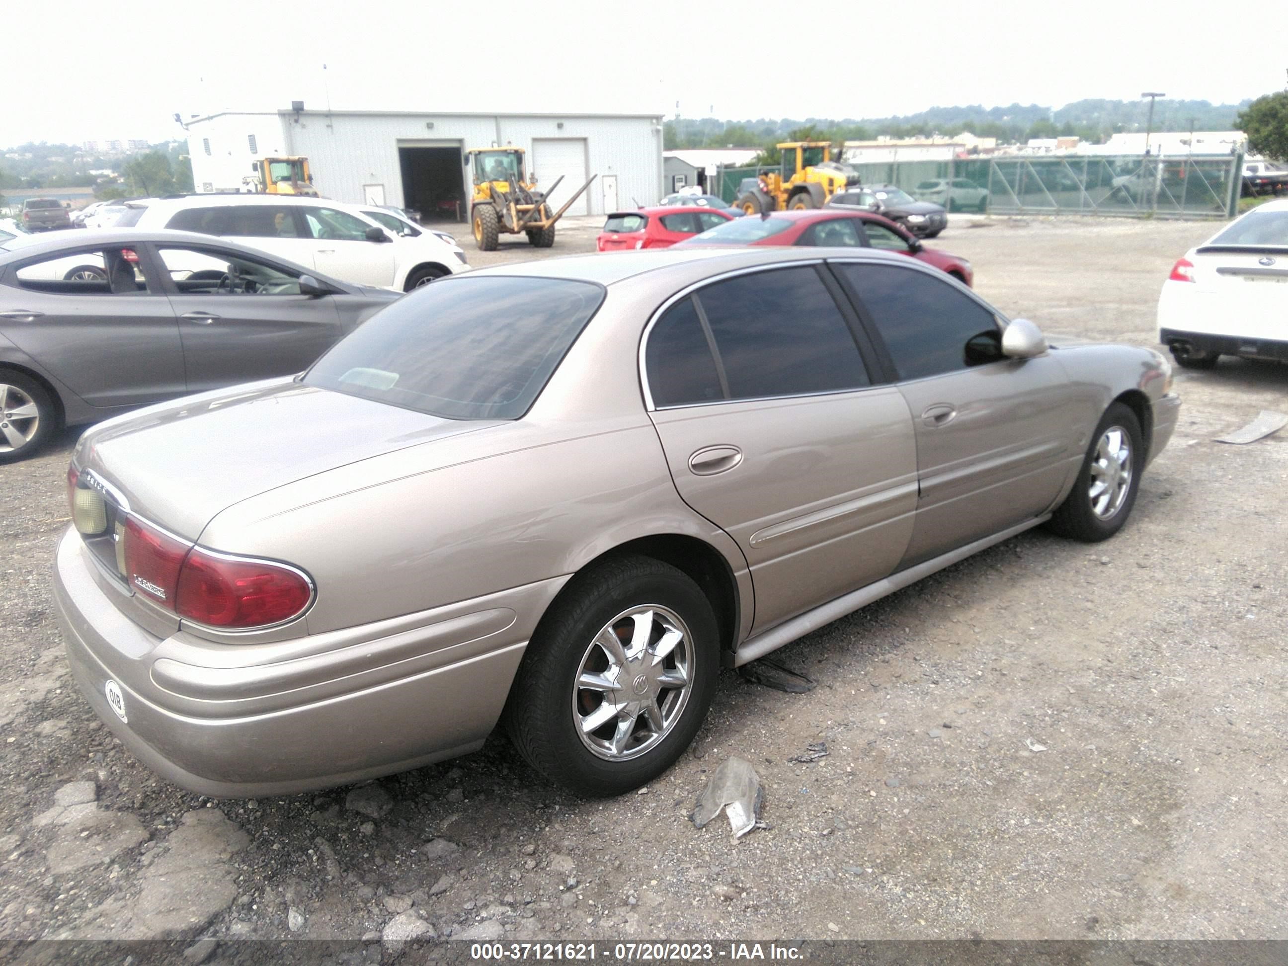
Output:
<instances>
[{"instance_id":1,"label":"white car at right edge, seen from behind","mask_svg":"<svg viewBox=\"0 0 1288 966\"><path fill-rule=\"evenodd\" d=\"M1158 298L1158 341L1188 368L1221 355L1288 362L1288 201L1267 201L1185 252Z\"/></svg>"}]
</instances>

